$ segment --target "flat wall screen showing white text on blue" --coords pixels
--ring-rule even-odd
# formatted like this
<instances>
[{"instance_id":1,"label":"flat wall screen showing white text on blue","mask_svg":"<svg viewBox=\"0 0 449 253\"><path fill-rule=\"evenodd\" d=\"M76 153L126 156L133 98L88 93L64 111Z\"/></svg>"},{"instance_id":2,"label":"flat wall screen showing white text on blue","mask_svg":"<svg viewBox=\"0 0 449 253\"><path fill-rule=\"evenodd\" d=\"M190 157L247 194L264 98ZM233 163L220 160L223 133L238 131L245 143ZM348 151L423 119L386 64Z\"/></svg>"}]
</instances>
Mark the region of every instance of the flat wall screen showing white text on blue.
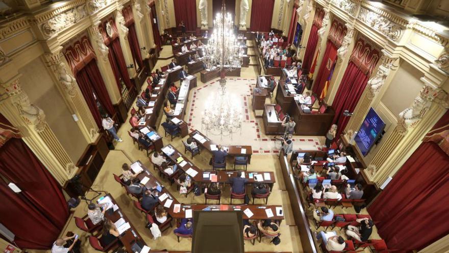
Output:
<instances>
[{"instance_id":1,"label":"flat wall screen showing white text on blue","mask_svg":"<svg viewBox=\"0 0 449 253\"><path fill-rule=\"evenodd\" d=\"M384 121L374 109L370 108L354 139L363 156L368 154L384 128Z\"/></svg>"}]
</instances>

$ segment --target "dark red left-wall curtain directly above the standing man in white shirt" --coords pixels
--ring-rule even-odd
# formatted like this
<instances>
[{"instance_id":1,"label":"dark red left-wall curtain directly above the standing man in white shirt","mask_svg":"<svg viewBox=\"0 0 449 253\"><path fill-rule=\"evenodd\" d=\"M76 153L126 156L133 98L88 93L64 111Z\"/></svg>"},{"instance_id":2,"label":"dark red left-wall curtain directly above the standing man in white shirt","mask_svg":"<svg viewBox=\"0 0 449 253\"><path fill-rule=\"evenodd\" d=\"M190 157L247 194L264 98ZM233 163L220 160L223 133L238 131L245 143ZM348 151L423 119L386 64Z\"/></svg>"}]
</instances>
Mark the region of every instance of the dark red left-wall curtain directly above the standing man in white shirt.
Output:
<instances>
[{"instance_id":1,"label":"dark red left-wall curtain directly above the standing man in white shirt","mask_svg":"<svg viewBox=\"0 0 449 253\"><path fill-rule=\"evenodd\" d=\"M76 79L97 126L101 128L102 118L93 97L93 92L95 92L98 101L102 104L107 113L113 116L115 110L111 99L109 98L108 90L103 82L102 75L96 65L96 61L92 60L87 63L86 66L77 73Z\"/></svg>"}]
</instances>

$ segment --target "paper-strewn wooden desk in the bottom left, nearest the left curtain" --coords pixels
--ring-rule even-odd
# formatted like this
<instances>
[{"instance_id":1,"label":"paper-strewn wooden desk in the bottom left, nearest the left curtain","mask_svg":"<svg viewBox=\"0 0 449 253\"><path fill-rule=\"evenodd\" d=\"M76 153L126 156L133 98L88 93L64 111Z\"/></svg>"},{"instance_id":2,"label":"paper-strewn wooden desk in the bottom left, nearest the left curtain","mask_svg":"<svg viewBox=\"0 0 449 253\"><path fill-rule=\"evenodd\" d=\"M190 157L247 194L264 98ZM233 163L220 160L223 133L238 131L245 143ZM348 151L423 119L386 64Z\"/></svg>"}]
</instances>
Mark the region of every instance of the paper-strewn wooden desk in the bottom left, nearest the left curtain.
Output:
<instances>
[{"instance_id":1,"label":"paper-strewn wooden desk in the bottom left, nearest the left curtain","mask_svg":"<svg viewBox=\"0 0 449 253\"><path fill-rule=\"evenodd\" d=\"M117 201L115 201L111 194L106 194L106 196L99 198L97 202L109 204L108 210L105 212L105 217L116 224L120 233L119 240L127 252L134 252L132 246L135 242L146 246L145 241L139 235L137 229L133 226L130 219L120 210Z\"/></svg>"}]
</instances>

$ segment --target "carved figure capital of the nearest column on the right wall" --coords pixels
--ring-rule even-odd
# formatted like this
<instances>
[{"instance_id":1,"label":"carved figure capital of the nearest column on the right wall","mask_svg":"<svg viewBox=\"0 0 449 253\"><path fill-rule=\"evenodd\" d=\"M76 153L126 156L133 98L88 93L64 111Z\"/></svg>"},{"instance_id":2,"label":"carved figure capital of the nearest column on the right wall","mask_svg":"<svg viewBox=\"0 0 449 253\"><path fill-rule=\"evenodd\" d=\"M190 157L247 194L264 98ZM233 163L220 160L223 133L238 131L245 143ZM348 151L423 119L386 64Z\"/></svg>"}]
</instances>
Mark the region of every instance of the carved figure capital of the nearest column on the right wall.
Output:
<instances>
[{"instance_id":1,"label":"carved figure capital of the nearest column on the right wall","mask_svg":"<svg viewBox=\"0 0 449 253\"><path fill-rule=\"evenodd\" d=\"M405 135L409 128L412 128L419 123L436 98L445 96L447 96L447 94L445 94L445 91L441 88L425 84L422 87L419 96L413 101L413 105L399 113L397 130Z\"/></svg>"}]
</instances>

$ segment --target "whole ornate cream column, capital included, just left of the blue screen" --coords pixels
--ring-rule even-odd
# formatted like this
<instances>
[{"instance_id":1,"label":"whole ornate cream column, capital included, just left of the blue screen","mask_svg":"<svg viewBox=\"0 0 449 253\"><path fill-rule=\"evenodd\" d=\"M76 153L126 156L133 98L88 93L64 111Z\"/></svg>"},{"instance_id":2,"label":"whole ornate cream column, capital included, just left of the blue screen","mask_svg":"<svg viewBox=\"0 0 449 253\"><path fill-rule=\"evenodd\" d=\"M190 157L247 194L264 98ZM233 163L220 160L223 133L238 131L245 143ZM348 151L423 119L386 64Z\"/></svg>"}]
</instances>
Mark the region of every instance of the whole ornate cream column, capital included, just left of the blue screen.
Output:
<instances>
[{"instance_id":1,"label":"whole ornate cream column, capital included, just left of the blue screen","mask_svg":"<svg viewBox=\"0 0 449 253\"><path fill-rule=\"evenodd\" d=\"M387 51L382 50L382 57L379 61L380 65L377 68L377 71L373 73L371 78L368 80L365 90L363 91L363 94L359 102L357 103L356 108L354 109L354 114L346 125L345 132L351 133L356 131L360 127L367 111L372 105L373 99L379 93L379 90L384 84L388 86L388 84L391 82L393 75L389 76L389 73L393 66L393 63L397 59L397 57L393 57ZM389 79L388 82L386 82L387 77Z\"/></svg>"}]
</instances>

